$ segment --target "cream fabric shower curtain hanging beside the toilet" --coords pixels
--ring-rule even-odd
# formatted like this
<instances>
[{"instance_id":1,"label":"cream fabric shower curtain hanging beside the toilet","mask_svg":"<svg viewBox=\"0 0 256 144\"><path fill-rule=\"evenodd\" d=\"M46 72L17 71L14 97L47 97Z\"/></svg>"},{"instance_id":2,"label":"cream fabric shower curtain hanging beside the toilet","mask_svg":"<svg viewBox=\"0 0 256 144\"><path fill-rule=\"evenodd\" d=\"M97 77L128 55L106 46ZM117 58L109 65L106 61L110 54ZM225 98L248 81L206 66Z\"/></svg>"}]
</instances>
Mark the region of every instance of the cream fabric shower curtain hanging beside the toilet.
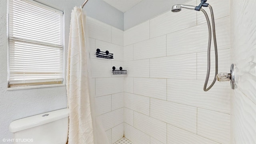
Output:
<instances>
[{"instance_id":1,"label":"cream fabric shower curtain hanging beside the toilet","mask_svg":"<svg viewBox=\"0 0 256 144\"><path fill-rule=\"evenodd\" d=\"M71 13L67 60L67 98L70 109L68 144L108 144L90 94L90 58L86 14L74 7Z\"/></svg>"}]
</instances>

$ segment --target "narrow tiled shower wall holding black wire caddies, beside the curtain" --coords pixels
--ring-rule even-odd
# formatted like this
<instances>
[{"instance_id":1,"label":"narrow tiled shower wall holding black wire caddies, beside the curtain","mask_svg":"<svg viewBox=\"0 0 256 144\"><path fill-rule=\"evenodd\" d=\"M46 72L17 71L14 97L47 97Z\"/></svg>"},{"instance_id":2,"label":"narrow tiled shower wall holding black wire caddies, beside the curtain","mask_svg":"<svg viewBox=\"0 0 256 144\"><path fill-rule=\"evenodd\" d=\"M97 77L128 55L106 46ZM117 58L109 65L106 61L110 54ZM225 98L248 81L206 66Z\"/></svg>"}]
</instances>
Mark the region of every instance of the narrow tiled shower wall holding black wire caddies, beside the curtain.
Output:
<instances>
[{"instance_id":1,"label":"narrow tiled shower wall holding black wire caddies, beside the curtain","mask_svg":"<svg viewBox=\"0 0 256 144\"><path fill-rule=\"evenodd\" d=\"M87 17L92 67L92 94L101 115L104 130L112 144L124 135L124 77L112 75L112 66L123 66L124 32ZM114 59L96 58L96 49L108 50Z\"/></svg>"}]
</instances>

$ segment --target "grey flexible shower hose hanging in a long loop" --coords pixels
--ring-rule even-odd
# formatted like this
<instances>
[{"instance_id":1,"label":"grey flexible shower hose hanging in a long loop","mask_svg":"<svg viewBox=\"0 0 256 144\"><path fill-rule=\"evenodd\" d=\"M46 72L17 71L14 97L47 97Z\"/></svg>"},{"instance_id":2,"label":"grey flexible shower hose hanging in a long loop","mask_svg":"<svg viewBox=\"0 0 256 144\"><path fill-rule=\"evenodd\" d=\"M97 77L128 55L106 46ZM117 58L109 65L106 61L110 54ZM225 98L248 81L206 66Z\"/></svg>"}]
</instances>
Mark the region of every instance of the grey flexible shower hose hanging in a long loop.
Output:
<instances>
[{"instance_id":1,"label":"grey flexible shower hose hanging in a long loop","mask_svg":"<svg viewBox=\"0 0 256 144\"><path fill-rule=\"evenodd\" d=\"M218 74L218 50L217 50L217 42L216 42L216 32L215 32L215 22L214 22L214 14L212 10L212 6L210 4L208 5L210 8L211 12L211 17L212 17L212 30L211 30L211 25L210 25L210 20L209 17L204 9L200 9L204 13L204 16L206 18L207 24L208 24L208 31L209 31L209 40L208 40L208 52L207 52L207 74L206 74L206 79L204 82L204 91L210 90L214 83L216 82L216 75ZM214 41L214 51L215 51L215 76L212 84L207 88L208 80L210 77L210 68L211 68L211 42L212 42L212 31L213 31L213 41Z\"/></svg>"}]
</instances>

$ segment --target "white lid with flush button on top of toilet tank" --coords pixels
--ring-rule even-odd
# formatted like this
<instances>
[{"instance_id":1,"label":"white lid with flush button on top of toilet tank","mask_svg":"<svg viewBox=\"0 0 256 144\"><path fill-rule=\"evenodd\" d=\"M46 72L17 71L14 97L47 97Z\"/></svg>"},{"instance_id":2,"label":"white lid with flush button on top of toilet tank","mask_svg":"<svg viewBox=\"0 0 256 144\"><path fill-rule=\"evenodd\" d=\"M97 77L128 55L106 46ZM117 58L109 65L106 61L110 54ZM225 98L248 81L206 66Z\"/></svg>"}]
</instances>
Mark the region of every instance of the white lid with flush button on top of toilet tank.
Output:
<instances>
[{"instance_id":1,"label":"white lid with flush button on top of toilet tank","mask_svg":"<svg viewBox=\"0 0 256 144\"><path fill-rule=\"evenodd\" d=\"M11 124L9 126L9 130L10 130L10 132L18 132L21 130L26 130L28 128L33 128L36 126L47 124L49 122L54 122L56 120L66 118L68 116L69 116L68 108L55 110L52 112L46 112L43 114L38 114L35 116L30 116L30 117L22 118L19 120L14 120L13 122L11 122Z\"/></svg>"}]
</instances>

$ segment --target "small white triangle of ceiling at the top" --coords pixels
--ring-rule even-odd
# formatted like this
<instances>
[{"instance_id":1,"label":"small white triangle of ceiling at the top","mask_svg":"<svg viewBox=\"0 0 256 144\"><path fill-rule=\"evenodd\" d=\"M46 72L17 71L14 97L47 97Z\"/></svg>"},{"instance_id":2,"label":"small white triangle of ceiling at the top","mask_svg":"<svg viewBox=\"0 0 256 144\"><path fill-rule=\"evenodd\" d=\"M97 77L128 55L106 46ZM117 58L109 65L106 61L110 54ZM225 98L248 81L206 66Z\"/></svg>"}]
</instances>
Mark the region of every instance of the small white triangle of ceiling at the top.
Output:
<instances>
[{"instance_id":1,"label":"small white triangle of ceiling at the top","mask_svg":"<svg viewBox=\"0 0 256 144\"><path fill-rule=\"evenodd\" d=\"M142 0L104 0L106 3L120 10L121 12L126 12L130 10L133 6L141 2Z\"/></svg>"}]
</instances>

